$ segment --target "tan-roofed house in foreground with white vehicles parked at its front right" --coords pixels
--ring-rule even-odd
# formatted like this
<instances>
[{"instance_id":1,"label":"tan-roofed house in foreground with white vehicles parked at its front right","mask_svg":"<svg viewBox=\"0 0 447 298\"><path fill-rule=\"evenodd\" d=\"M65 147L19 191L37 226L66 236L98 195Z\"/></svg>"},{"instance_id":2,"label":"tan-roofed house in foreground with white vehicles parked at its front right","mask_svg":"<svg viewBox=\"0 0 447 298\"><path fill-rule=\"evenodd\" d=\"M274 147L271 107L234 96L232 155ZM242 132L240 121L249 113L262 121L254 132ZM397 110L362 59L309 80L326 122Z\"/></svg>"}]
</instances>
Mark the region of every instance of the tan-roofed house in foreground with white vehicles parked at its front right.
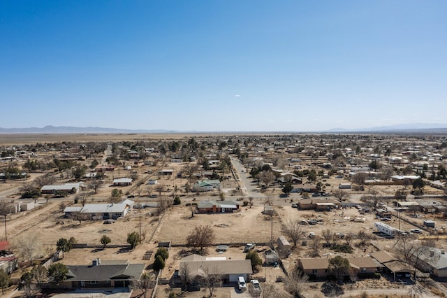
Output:
<instances>
[{"instance_id":1,"label":"tan-roofed house in foreground with white vehicles parked at its front right","mask_svg":"<svg viewBox=\"0 0 447 298\"><path fill-rule=\"evenodd\" d=\"M180 260L179 276L182 279L184 279L186 268L193 280L199 283L207 272L221 275L224 283L237 282L239 276L243 276L245 281L249 281L250 275L253 274L250 260L222 260L222 257L216 259L201 255L189 255Z\"/></svg>"}]
</instances>

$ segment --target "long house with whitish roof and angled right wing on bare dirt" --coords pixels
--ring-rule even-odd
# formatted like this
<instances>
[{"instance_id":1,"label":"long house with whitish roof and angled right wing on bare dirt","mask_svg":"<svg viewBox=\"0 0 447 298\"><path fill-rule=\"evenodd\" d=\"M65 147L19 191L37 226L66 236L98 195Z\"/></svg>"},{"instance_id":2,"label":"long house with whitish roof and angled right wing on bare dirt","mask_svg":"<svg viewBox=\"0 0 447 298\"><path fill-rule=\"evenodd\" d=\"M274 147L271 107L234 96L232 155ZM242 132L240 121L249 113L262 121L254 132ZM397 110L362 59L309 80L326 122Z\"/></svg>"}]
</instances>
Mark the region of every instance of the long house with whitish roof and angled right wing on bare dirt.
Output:
<instances>
[{"instance_id":1,"label":"long house with whitish roof and angled right wing on bare dirt","mask_svg":"<svg viewBox=\"0 0 447 298\"><path fill-rule=\"evenodd\" d=\"M70 206L64 209L65 217L70 218L77 213L87 214L89 219L108 219L125 216L135 202L125 199L118 204L85 204L84 206Z\"/></svg>"}]
</instances>

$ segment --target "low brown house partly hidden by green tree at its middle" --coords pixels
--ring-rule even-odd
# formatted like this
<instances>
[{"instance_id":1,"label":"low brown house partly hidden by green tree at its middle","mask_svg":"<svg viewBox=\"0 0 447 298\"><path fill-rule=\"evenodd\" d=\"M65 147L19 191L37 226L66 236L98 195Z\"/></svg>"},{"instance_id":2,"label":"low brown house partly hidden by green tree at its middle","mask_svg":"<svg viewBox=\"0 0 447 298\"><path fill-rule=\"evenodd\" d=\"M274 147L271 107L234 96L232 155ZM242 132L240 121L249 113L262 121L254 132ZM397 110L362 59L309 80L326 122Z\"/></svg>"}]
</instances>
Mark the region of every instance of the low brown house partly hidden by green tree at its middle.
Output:
<instances>
[{"instance_id":1,"label":"low brown house partly hidden by green tree at its middle","mask_svg":"<svg viewBox=\"0 0 447 298\"><path fill-rule=\"evenodd\" d=\"M346 275L349 276L372 274L377 271L377 267L380 267L371 257L346 257L346 259L350 264L349 271L346 272ZM309 276L325 278L331 274L329 260L328 257L302 258L298 260L298 267Z\"/></svg>"}]
</instances>

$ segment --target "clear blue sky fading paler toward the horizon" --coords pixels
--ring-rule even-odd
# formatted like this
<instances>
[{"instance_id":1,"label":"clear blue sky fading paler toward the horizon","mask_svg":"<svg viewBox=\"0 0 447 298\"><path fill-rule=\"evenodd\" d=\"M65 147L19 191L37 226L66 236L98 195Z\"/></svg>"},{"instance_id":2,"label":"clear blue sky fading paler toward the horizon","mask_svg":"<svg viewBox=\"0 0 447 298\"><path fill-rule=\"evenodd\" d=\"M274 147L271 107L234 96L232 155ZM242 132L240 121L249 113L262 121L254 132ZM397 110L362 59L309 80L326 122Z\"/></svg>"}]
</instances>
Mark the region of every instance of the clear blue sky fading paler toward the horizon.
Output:
<instances>
[{"instance_id":1,"label":"clear blue sky fading paler toward the horizon","mask_svg":"<svg viewBox=\"0 0 447 298\"><path fill-rule=\"evenodd\" d=\"M0 1L0 127L447 123L447 1Z\"/></svg>"}]
</instances>

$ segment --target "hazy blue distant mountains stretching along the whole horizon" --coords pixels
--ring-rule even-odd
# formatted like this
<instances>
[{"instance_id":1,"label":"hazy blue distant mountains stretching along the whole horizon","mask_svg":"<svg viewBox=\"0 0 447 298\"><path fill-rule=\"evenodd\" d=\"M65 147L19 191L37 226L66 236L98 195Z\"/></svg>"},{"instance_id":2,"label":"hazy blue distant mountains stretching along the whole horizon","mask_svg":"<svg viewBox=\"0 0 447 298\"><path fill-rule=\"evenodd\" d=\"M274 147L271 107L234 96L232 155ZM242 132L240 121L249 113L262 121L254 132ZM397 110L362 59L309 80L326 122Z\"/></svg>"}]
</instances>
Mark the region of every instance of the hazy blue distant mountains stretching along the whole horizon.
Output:
<instances>
[{"instance_id":1,"label":"hazy blue distant mountains stretching along the whole horizon","mask_svg":"<svg viewBox=\"0 0 447 298\"><path fill-rule=\"evenodd\" d=\"M205 132L205 131L203 131ZM244 131L245 132L245 131ZM298 132L298 131L297 131ZM300 131L302 132L302 131ZM344 129L333 128L325 131L315 131L325 133L356 133L356 132L369 132L369 133L446 133L447 124L439 123L416 123L416 124L400 124L389 125L381 127L370 127L362 129ZM175 134L175 133L200 133L199 131L177 131L166 129L117 129L107 127L71 127L71 126L51 126L45 127L27 127L27 128L1 128L0 134ZM212 132L209 132L212 133ZM216 133L218 133L216 131ZM219 131L219 133L225 133ZM227 132L228 133L228 132ZM246 132L249 133L249 132ZM288 131L286 133L293 133Z\"/></svg>"}]
</instances>

